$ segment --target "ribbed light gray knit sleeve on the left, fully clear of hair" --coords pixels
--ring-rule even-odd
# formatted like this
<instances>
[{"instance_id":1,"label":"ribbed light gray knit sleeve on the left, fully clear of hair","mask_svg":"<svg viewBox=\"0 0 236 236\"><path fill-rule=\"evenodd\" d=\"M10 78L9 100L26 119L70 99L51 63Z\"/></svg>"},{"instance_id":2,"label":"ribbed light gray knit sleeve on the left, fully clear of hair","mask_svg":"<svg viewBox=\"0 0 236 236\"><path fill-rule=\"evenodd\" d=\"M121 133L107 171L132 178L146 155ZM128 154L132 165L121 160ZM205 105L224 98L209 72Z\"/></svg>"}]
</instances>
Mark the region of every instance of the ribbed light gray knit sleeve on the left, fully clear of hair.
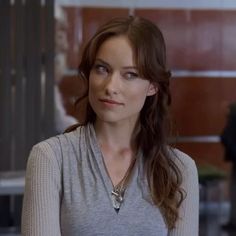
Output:
<instances>
[{"instance_id":1,"label":"ribbed light gray knit sleeve on the left, fully clear of hair","mask_svg":"<svg viewBox=\"0 0 236 236\"><path fill-rule=\"evenodd\" d=\"M60 168L47 142L33 147L26 170L23 236L60 236Z\"/></svg>"}]
</instances>

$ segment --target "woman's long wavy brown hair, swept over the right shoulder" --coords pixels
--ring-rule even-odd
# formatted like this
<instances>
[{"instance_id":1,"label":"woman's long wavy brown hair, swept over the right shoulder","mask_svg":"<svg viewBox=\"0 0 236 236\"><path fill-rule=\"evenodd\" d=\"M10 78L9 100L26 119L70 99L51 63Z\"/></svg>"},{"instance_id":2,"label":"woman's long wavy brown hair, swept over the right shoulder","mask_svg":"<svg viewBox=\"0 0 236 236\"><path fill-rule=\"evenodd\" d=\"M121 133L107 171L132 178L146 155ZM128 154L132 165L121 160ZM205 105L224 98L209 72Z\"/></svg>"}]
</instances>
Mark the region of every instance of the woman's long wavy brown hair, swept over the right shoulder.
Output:
<instances>
[{"instance_id":1,"label":"woman's long wavy brown hair, swept over the right shoulder","mask_svg":"<svg viewBox=\"0 0 236 236\"><path fill-rule=\"evenodd\" d=\"M170 131L168 110L171 103L171 73L166 68L166 46L161 31L154 23L139 17L109 21L98 29L85 47L79 65L79 77L88 84L100 46L108 38L119 35L125 35L129 39L139 75L158 88L155 95L146 98L140 112L140 129L135 141L144 154L145 173L152 200L160 208L168 228L173 229L179 218L178 209L184 199L184 190L181 189L182 174L176 164L178 158L167 145ZM88 86L77 103L87 96ZM84 124L94 123L95 120L96 114L87 102Z\"/></svg>"}]
</instances>

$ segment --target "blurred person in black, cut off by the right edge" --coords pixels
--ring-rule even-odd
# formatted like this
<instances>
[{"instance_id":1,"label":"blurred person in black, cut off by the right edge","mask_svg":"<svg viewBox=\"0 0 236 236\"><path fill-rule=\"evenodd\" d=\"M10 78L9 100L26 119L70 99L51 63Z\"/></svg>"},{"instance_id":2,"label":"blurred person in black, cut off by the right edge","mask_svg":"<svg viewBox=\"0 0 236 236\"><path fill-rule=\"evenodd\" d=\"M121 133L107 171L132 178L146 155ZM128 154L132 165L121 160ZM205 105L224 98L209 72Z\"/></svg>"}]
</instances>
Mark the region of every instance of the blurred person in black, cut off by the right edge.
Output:
<instances>
[{"instance_id":1,"label":"blurred person in black, cut off by the right edge","mask_svg":"<svg viewBox=\"0 0 236 236\"><path fill-rule=\"evenodd\" d=\"M223 225L225 230L236 231L236 103L229 106L226 126L221 135L221 142L225 149L225 160L232 163L230 176L230 217Z\"/></svg>"}]
</instances>

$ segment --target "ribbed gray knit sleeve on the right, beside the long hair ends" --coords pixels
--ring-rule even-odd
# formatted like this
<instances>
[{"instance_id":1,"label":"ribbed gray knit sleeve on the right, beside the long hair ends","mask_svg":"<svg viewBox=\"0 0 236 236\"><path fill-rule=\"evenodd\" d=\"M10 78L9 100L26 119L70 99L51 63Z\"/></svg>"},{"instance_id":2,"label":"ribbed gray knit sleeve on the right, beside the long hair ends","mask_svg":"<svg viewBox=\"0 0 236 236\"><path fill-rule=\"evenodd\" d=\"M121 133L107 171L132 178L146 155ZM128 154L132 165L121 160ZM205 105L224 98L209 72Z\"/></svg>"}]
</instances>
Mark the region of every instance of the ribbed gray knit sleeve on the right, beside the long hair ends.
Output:
<instances>
[{"instance_id":1,"label":"ribbed gray knit sleeve on the right, beside the long hair ends","mask_svg":"<svg viewBox=\"0 0 236 236\"><path fill-rule=\"evenodd\" d=\"M183 200L179 220L174 230L168 236L198 236L199 233L199 184L195 162L186 154L178 151L183 162L180 168L183 175L182 188L186 197Z\"/></svg>"}]
</instances>

